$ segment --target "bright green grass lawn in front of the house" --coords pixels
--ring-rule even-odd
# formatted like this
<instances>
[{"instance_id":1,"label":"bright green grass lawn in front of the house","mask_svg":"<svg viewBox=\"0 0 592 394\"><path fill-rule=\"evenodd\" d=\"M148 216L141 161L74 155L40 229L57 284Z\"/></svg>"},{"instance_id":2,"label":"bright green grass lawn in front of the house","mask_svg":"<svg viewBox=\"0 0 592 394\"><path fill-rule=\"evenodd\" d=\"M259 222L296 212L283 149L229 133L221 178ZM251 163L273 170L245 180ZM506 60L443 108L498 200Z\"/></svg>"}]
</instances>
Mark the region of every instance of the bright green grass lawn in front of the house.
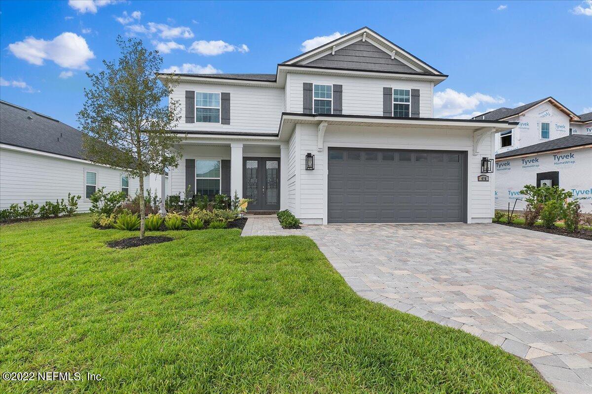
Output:
<instances>
[{"instance_id":1,"label":"bright green grass lawn in front of the house","mask_svg":"<svg viewBox=\"0 0 592 394\"><path fill-rule=\"evenodd\" d=\"M551 393L526 362L358 297L307 237L131 236L86 215L0 227L0 392Z\"/></svg>"}]
</instances>

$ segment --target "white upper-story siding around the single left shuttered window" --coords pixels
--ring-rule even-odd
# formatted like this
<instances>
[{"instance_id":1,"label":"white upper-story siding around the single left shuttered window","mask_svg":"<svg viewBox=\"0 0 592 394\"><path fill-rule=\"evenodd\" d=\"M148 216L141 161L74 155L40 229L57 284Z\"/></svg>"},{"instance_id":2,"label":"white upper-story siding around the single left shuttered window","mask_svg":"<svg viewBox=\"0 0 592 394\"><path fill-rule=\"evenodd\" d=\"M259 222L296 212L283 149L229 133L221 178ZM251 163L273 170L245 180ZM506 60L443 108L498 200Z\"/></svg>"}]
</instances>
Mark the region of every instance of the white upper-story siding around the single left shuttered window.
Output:
<instances>
[{"instance_id":1,"label":"white upper-story siding around the single left shuttered window","mask_svg":"<svg viewBox=\"0 0 592 394\"><path fill-rule=\"evenodd\" d=\"M230 93L230 125L220 123L185 123L185 90ZM284 89L258 86L233 86L182 82L171 98L181 107L178 129L194 131L277 133L284 109Z\"/></svg>"}]
</instances>

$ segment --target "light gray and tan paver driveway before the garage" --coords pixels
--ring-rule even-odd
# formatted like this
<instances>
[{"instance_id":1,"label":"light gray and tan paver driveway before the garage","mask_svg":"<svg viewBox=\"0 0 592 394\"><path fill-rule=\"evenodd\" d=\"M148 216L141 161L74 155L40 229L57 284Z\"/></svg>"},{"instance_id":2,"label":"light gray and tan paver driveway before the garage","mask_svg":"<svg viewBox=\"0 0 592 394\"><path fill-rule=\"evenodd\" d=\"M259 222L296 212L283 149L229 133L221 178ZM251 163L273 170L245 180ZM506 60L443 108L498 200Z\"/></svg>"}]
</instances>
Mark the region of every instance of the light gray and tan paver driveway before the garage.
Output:
<instances>
[{"instance_id":1,"label":"light gray and tan paver driveway before the garage","mask_svg":"<svg viewBox=\"0 0 592 394\"><path fill-rule=\"evenodd\" d=\"M592 242L499 224L304 226L362 297L530 360L592 393Z\"/></svg>"}]
</instances>

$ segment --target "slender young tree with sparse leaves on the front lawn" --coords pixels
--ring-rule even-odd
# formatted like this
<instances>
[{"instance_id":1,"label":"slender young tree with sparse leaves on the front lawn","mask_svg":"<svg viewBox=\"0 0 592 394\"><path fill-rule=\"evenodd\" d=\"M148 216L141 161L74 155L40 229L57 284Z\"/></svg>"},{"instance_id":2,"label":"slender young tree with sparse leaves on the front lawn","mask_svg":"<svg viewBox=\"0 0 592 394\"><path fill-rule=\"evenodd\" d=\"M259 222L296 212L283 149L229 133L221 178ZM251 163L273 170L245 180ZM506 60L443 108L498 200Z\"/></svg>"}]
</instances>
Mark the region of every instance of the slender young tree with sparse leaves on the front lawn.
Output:
<instances>
[{"instance_id":1,"label":"slender young tree with sparse leaves on the front lawn","mask_svg":"<svg viewBox=\"0 0 592 394\"><path fill-rule=\"evenodd\" d=\"M147 51L141 40L118 36L117 45L121 49L117 63L104 60L106 70L86 73L92 87L84 89L86 100L77 114L84 132L83 154L138 178L144 196L146 175L163 174L179 162L179 153L170 148L181 138L169 132L181 119L179 102L171 99L166 106L178 80L166 77L160 82L156 73L162 57L158 51ZM144 198L139 200L142 238L146 212Z\"/></svg>"}]
</instances>

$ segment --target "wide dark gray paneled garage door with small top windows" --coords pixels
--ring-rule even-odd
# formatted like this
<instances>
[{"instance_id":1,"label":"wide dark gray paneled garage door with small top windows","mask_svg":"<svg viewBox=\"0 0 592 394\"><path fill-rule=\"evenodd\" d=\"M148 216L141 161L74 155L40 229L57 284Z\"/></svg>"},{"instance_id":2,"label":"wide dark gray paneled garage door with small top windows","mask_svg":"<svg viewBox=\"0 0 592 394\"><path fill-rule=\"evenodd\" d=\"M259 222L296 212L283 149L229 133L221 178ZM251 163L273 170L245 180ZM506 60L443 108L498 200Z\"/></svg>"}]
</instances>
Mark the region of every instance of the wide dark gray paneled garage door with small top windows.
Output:
<instances>
[{"instance_id":1,"label":"wide dark gray paneled garage door with small top windows","mask_svg":"<svg viewBox=\"0 0 592 394\"><path fill-rule=\"evenodd\" d=\"M329 148L329 223L465 222L466 152Z\"/></svg>"}]
</instances>

